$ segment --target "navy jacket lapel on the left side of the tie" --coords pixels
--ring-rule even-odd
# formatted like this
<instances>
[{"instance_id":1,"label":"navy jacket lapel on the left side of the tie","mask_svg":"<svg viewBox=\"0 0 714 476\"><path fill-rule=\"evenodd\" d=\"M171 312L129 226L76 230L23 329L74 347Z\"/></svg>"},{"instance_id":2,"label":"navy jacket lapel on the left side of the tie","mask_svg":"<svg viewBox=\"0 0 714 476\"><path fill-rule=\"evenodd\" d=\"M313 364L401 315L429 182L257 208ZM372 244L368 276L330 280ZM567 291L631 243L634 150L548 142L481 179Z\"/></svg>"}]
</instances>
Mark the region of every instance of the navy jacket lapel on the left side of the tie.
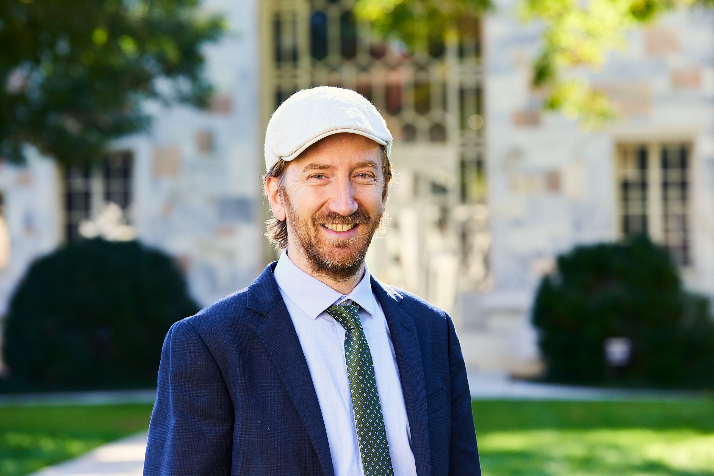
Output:
<instances>
[{"instance_id":1,"label":"navy jacket lapel on the left side of the tie","mask_svg":"<svg viewBox=\"0 0 714 476\"><path fill-rule=\"evenodd\" d=\"M273 278L275 265L276 263L268 265L248 287L248 308L265 315L255 328L256 334L265 345L288 395L298 410L323 472L326 476L334 476L330 444L320 403L295 326L278 290L278 283Z\"/></svg>"}]
</instances>

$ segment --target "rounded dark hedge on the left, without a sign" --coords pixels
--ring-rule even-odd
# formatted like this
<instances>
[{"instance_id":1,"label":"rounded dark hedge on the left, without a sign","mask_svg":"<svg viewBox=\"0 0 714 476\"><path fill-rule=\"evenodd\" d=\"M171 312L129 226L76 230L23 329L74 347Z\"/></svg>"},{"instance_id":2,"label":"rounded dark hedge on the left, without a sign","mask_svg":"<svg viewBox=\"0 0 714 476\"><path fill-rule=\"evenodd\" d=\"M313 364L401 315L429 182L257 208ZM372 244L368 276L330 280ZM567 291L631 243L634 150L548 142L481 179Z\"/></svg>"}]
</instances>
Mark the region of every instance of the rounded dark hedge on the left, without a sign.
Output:
<instances>
[{"instance_id":1,"label":"rounded dark hedge on the left, without a sign","mask_svg":"<svg viewBox=\"0 0 714 476\"><path fill-rule=\"evenodd\" d=\"M172 323L198 306L168 255L82 240L37 260L11 298L4 390L156 385Z\"/></svg>"}]
</instances>

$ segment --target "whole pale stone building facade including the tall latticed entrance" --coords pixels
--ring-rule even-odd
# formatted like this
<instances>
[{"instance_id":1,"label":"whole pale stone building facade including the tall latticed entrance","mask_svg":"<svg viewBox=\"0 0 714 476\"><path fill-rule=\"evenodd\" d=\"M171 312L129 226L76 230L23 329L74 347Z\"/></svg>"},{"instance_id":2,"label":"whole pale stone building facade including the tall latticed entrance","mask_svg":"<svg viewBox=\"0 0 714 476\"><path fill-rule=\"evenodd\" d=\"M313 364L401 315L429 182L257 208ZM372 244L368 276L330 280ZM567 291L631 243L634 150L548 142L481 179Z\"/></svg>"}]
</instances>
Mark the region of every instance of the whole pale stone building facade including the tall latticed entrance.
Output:
<instances>
[{"instance_id":1,"label":"whole pale stone building facade including the tall latticed entrance","mask_svg":"<svg viewBox=\"0 0 714 476\"><path fill-rule=\"evenodd\" d=\"M68 240L138 238L181 264L201 305L276 253L263 237L263 133L294 91L353 88L386 117L396 181L370 270L452 313L468 365L536 375L533 293L558 253L647 231L714 295L714 16L628 34L590 80L622 119L583 131L529 86L538 27L499 0L458 38L407 54L373 41L353 0L207 0L211 108L146 105L154 125L93 168L30 153L0 167L0 313L29 263ZM110 205L111 203L111 205Z\"/></svg>"}]
</instances>

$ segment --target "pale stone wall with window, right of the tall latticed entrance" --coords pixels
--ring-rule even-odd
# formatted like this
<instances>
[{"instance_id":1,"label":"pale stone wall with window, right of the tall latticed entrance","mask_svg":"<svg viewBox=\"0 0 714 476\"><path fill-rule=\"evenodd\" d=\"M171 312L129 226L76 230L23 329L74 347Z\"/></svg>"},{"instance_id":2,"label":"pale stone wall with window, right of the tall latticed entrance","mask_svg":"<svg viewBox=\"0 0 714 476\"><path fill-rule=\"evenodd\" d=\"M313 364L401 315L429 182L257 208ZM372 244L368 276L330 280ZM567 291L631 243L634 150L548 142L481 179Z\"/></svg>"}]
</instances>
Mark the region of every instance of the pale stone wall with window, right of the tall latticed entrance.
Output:
<instances>
[{"instance_id":1,"label":"pale stone wall with window, right of the tall latticed entrance","mask_svg":"<svg viewBox=\"0 0 714 476\"><path fill-rule=\"evenodd\" d=\"M493 289L469 296L481 368L535 371L533 294L554 258L645 231L689 288L714 295L714 15L683 9L630 31L586 73L622 118L583 131L540 111L530 86L538 27L498 1L485 21L486 156ZM486 350L492 346L491 350Z\"/></svg>"}]
</instances>

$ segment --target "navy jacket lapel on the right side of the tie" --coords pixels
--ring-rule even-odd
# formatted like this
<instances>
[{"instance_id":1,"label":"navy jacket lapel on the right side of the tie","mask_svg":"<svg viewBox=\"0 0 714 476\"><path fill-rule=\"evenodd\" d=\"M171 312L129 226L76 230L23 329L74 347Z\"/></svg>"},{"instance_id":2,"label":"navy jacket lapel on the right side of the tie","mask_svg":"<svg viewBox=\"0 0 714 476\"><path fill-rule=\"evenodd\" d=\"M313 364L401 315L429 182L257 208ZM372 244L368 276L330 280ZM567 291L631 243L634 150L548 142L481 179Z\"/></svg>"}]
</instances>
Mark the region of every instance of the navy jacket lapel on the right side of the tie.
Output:
<instances>
[{"instance_id":1,"label":"navy jacket lapel on the right side of the tie","mask_svg":"<svg viewBox=\"0 0 714 476\"><path fill-rule=\"evenodd\" d=\"M372 292L384 310L396 355L404 404L411 430L411 445L416 463L416 474L431 475L429 455L429 427L426 415L426 384L421 363L421 348L414 320L401 308L402 297L371 276Z\"/></svg>"}]
</instances>

